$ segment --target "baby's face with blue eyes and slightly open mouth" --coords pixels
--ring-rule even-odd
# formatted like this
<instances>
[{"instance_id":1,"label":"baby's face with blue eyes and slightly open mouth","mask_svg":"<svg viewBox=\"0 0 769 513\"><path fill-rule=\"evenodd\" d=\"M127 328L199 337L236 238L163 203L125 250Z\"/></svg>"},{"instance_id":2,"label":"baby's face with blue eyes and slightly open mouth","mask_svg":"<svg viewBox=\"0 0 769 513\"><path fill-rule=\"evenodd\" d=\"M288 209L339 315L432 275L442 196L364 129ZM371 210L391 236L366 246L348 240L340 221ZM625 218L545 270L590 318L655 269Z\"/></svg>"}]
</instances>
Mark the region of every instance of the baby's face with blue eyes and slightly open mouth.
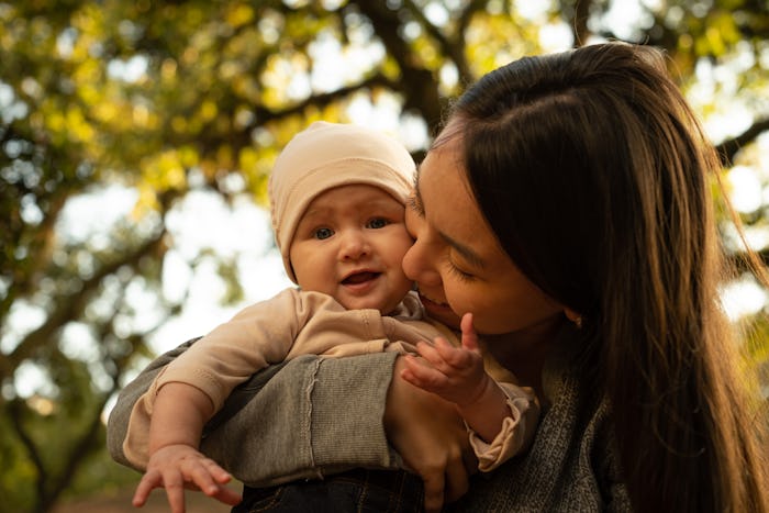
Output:
<instances>
[{"instance_id":1,"label":"baby's face with blue eyes and slightly open mouth","mask_svg":"<svg viewBox=\"0 0 769 513\"><path fill-rule=\"evenodd\" d=\"M297 282L348 310L390 313L412 286L401 267L412 244L403 216L403 205L372 186L342 186L317 196L289 248Z\"/></svg>"}]
</instances>

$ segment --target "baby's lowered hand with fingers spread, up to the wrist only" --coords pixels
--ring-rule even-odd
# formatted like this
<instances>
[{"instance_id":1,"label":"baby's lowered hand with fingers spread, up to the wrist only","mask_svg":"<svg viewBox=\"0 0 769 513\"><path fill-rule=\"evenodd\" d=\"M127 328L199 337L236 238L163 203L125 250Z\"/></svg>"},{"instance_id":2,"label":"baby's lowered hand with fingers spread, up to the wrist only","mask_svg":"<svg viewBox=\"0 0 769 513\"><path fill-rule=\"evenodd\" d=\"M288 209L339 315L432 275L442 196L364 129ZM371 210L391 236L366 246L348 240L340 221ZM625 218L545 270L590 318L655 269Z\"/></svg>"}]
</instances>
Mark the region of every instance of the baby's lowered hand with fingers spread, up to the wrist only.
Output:
<instances>
[{"instance_id":1,"label":"baby's lowered hand with fingers spread, up to the wrist only","mask_svg":"<svg viewBox=\"0 0 769 513\"><path fill-rule=\"evenodd\" d=\"M185 512L185 488L200 490L225 504L235 505L241 497L225 484L230 473L188 445L168 445L157 449L147 464L133 498L141 508L155 488L165 488L171 513Z\"/></svg>"}]
</instances>

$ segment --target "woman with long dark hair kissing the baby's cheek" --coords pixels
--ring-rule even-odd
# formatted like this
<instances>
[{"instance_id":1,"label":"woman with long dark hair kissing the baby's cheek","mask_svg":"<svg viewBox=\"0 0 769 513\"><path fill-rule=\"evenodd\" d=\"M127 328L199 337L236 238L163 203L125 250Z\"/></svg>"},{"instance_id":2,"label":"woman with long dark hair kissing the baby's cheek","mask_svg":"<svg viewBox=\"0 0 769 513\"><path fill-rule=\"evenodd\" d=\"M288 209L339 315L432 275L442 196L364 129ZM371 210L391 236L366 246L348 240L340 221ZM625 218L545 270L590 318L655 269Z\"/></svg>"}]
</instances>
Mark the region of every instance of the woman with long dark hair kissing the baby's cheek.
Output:
<instances>
[{"instance_id":1,"label":"woman with long dark hair kissing the baby's cheek","mask_svg":"<svg viewBox=\"0 0 769 513\"><path fill-rule=\"evenodd\" d=\"M454 105L420 168L404 269L437 320L473 313L544 415L531 450L471 480L450 510L769 511L762 423L718 306L716 170L661 57L645 47L521 59ZM312 386L303 408L319 417L302 437L312 458L303 470L292 461L292 476L397 466L378 416L387 394L387 439L422 476L426 509L441 506L444 490L449 501L462 495L465 447L432 444L452 436L438 428L450 412L427 410L430 398L402 380L403 361L390 382L391 359L365 358L293 368ZM278 444L280 454L243 461L238 433L259 401L214 435L237 450L210 440L209 454L244 479L291 454ZM334 435L324 440L326 422ZM361 438L365 457L341 447Z\"/></svg>"}]
</instances>

